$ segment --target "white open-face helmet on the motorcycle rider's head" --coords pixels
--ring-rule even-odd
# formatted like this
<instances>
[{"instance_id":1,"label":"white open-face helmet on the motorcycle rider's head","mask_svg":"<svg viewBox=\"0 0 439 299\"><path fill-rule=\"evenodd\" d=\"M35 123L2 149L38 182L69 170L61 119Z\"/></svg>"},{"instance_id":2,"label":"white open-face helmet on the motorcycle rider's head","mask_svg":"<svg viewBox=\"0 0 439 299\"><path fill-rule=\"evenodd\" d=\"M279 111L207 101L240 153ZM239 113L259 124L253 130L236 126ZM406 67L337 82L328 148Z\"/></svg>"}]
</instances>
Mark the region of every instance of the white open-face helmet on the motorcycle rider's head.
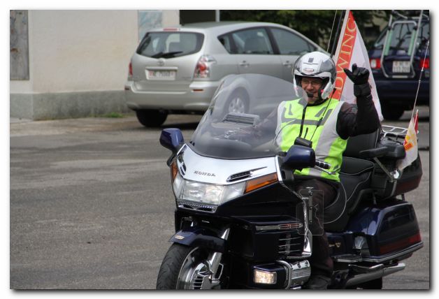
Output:
<instances>
[{"instance_id":1,"label":"white open-face helmet on the motorcycle rider's head","mask_svg":"<svg viewBox=\"0 0 439 299\"><path fill-rule=\"evenodd\" d=\"M301 86L302 77L322 78L322 89L318 92L322 100L328 99L336 86L336 64L322 52L310 52L298 57L292 73L294 89Z\"/></svg>"}]
</instances>

